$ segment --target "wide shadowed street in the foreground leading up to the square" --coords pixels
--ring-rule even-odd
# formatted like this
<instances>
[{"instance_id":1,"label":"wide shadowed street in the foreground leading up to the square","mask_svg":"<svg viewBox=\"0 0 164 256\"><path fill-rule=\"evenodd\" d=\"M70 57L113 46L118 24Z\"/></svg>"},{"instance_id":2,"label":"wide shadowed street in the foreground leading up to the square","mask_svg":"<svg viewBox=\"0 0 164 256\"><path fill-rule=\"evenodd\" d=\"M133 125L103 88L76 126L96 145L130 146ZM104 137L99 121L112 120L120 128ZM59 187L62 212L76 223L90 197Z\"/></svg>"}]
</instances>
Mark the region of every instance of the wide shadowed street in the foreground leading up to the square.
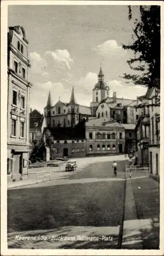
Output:
<instances>
[{"instance_id":1,"label":"wide shadowed street in the foreground leading up to the square","mask_svg":"<svg viewBox=\"0 0 164 256\"><path fill-rule=\"evenodd\" d=\"M117 177L107 158L91 163L80 159L77 166L71 173L63 166L57 180L8 190L9 248L120 248L124 161L118 162ZM37 241L15 236L36 236ZM56 236L62 240L54 240ZM98 240L85 241L83 236Z\"/></svg>"}]
</instances>

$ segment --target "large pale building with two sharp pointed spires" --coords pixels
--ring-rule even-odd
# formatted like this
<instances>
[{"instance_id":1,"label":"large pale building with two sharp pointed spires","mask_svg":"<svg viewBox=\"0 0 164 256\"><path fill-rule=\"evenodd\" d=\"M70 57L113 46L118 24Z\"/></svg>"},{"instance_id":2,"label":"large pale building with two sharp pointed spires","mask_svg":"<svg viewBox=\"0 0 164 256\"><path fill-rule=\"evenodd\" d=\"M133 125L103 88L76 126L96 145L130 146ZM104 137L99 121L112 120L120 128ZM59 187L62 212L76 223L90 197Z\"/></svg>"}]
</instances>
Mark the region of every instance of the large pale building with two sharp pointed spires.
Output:
<instances>
[{"instance_id":1,"label":"large pale building with two sharp pointed spires","mask_svg":"<svg viewBox=\"0 0 164 256\"><path fill-rule=\"evenodd\" d=\"M75 100L74 88L72 88L69 103L59 100L55 105L52 105L49 92L47 105L44 108L46 127L74 127L84 119L88 120L90 116L90 107L79 105Z\"/></svg>"}]
</instances>

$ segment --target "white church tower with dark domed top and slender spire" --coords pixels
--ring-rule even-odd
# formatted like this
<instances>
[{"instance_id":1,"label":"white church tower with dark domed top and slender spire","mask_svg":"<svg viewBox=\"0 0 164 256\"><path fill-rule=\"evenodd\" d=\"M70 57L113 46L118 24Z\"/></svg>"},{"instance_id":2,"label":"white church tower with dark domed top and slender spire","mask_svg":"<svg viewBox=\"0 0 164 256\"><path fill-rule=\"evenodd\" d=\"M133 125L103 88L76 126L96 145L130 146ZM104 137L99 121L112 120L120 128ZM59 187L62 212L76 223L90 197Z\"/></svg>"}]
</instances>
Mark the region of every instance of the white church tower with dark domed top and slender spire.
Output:
<instances>
[{"instance_id":1,"label":"white church tower with dark domed top and slender spire","mask_svg":"<svg viewBox=\"0 0 164 256\"><path fill-rule=\"evenodd\" d=\"M93 89L93 96L91 106L92 115L95 116L97 106L100 102L110 97L110 89L107 86L107 83L104 82L104 74L100 64L100 71L98 74L98 82L95 84Z\"/></svg>"}]
</instances>

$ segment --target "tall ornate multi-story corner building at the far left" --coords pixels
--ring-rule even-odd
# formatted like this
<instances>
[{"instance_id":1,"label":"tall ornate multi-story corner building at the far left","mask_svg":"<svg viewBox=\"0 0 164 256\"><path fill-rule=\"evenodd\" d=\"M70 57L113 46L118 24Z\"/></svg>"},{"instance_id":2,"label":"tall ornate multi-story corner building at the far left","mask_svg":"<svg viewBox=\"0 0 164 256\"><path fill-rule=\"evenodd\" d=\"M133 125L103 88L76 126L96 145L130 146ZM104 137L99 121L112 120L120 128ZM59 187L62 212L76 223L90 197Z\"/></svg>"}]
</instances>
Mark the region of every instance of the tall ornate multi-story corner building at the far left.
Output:
<instances>
[{"instance_id":1,"label":"tall ornate multi-story corner building at the far left","mask_svg":"<svg viewBox=\"0 0 164 256\"><path fill-rule=\"evenodd\" d=\"M23 27L9 27L7 171L13 178L28 172L29 97L32 87L28 44Z\"/></svg>"}]
</instances>

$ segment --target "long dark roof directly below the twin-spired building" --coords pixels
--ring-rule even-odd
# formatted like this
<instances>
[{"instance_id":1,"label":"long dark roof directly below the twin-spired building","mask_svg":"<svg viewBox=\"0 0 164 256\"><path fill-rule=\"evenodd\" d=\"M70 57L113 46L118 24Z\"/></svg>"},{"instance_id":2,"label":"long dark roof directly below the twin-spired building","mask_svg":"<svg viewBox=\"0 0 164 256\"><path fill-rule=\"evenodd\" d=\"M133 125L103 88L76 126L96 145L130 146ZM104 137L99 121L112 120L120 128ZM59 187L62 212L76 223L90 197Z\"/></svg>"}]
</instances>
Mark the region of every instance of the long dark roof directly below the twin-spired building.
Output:
<instances>
[{"instance_id":1,"label":"long dark roof directly below the twin-spired building","mask_svg":"<svg viewBox=\"0 0 164 256\"><path fill-rule=\"evenodd\" d=\"M43 134L46 130L51 132L54 140L81 140L86 137L84 124L75 127L45 127Z\"/></svg>"}]
</instances>

